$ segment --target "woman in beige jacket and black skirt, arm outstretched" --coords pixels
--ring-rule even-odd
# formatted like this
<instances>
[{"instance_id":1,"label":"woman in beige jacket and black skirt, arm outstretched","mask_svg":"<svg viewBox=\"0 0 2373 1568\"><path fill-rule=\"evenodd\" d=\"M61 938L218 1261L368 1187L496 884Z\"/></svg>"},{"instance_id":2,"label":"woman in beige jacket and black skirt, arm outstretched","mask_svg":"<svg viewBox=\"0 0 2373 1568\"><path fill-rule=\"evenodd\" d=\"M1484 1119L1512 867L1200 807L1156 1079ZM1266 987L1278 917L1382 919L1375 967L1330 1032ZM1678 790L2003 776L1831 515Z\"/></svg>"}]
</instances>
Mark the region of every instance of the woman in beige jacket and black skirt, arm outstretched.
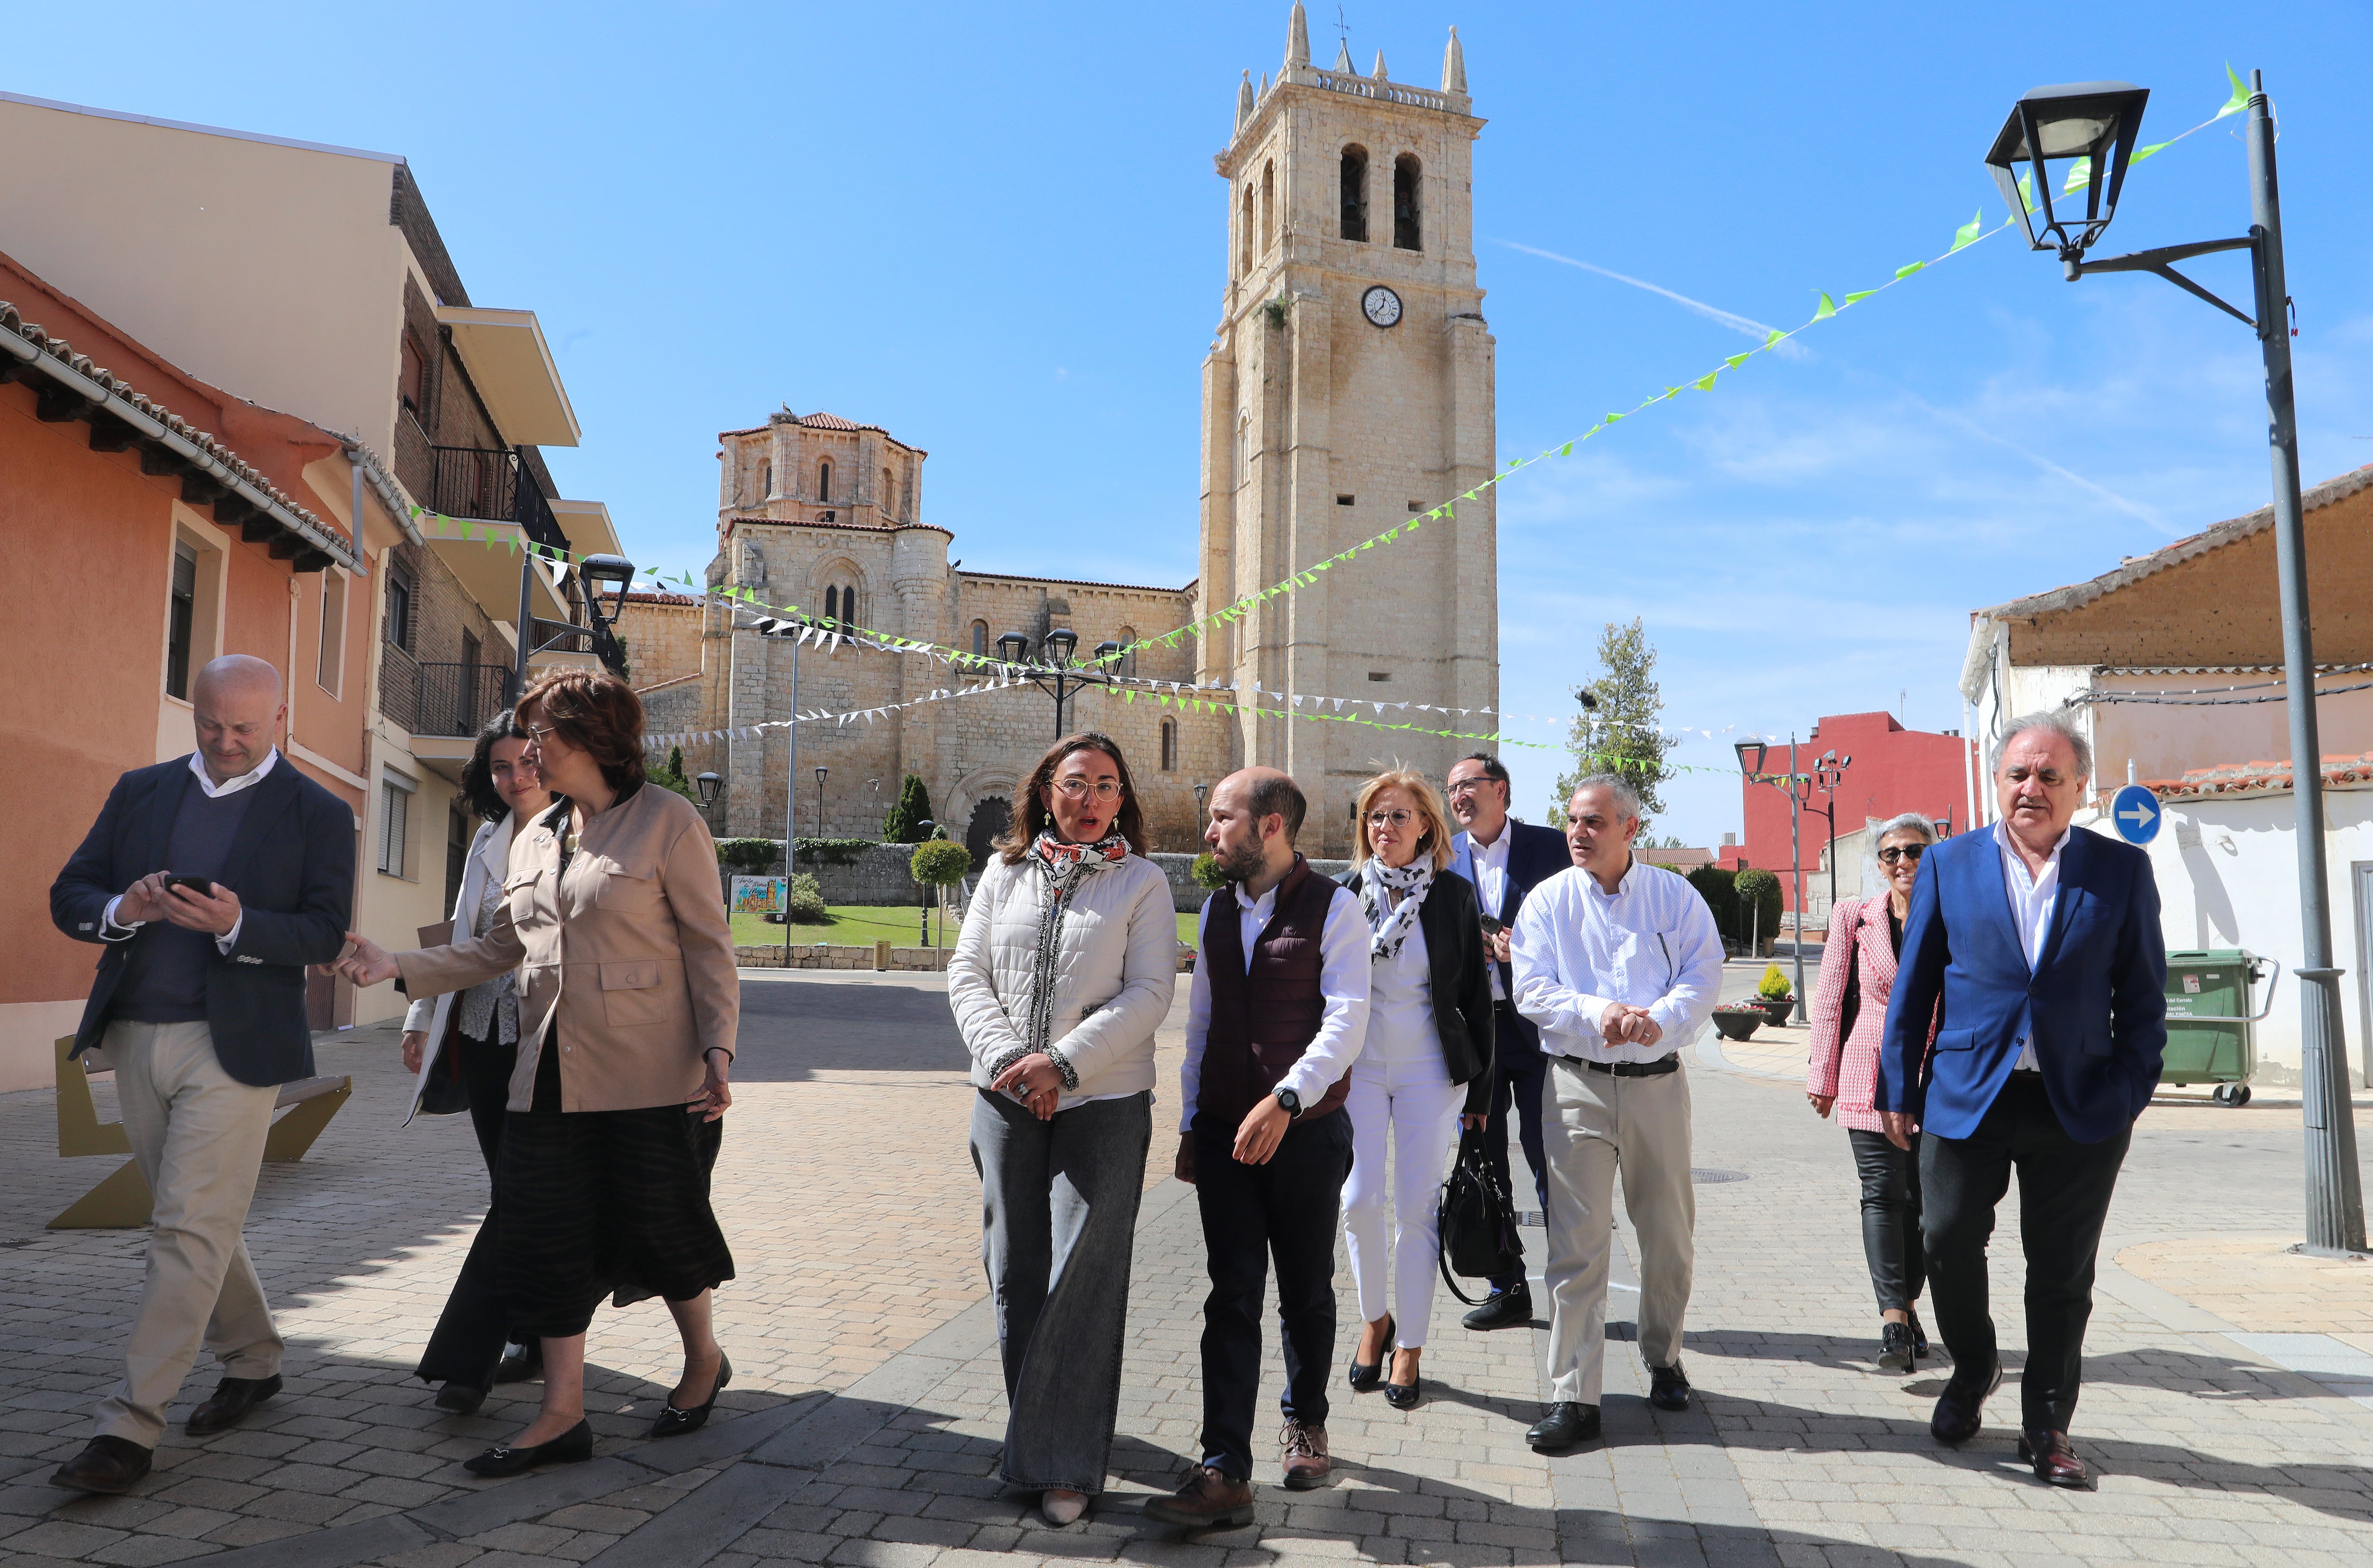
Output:
<instances>
[{"instance_id":1,"label":"woman in beige jacket and black skirt, arm outstretched","mask_svg":"<svg viewBox=\"0 0 2373 1568\"><path fill-rule=\"evenodd\" d=\"M520 977L498 1264L513 1333L543 1340L543 1409L467 1461L479 1475L593 1454L584 1336L603 1295L660 1295L683 1333L655 1438L705 1423L733 1373L710 1326L710 1290L733 1279L710 1167L740 1022L717 844L691 802L643 783L624 681L551 671L517 714L555 804L513 835L494 928L408 954L354 937L339 963L356 984L401 973L413 996Z\"/></svg>"}]
</instances>

